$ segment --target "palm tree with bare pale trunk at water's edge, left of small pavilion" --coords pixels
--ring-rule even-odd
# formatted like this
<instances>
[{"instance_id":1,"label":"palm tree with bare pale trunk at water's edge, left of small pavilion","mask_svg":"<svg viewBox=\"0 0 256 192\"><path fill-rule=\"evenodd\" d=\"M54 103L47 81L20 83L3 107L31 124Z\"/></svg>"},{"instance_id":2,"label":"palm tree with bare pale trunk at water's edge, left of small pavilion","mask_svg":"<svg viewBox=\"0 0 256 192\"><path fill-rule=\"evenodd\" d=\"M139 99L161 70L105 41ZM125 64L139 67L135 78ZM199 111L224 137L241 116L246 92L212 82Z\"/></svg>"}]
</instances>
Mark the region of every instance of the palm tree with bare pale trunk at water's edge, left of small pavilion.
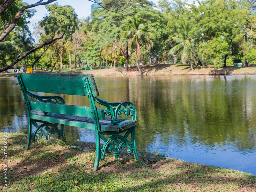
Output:
<instances>
[{"instance_id":1,"label":"palm tree with bare pale trunk at water's edge, left of small pavilion","mask_svg":"<svg viewBox=\"0 0 256 192\"><path fill-rule=\"evenodd\" d=\"M129 50L136 50L137 66L141 74L142 71L139 66L140 45L148 47L148 44L150 44L153 47L151 38L155 38L154 34L151 33L152 27L143 23L142 15L136 13L135 16L128 17L128 24L124 28L123 33L124 38L130 39Z\"/></svg>"}]
</instances>

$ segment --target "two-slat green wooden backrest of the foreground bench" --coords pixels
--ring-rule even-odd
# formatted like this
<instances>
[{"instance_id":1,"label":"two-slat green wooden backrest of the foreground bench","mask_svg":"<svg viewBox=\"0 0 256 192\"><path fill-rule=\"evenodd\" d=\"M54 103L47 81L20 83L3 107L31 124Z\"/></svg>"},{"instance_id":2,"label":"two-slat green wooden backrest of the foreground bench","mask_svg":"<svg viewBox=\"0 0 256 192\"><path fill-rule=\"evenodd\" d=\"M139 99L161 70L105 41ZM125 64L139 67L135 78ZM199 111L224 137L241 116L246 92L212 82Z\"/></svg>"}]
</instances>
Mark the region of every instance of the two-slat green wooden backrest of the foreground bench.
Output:
<instances>
[{"instance_id":1,"label":"two-slat green wooden backrest of the foreground bench","mask_svg":"<svg viewBox=\"0 0 256 192\"><path fill-rule=\"evenodd\" d=\"M89 90L91 91L92 96L97 97L99 95L99 92L94 81L93 74L19 73L17 74L17 79L19 83L21 83L20 86L22 88L24 99L26 105L28 106L30 114L31 110L37 110L43 112L93 118L91 107L66 105L65 101L59 96L53 96L53 98L58 99L59 97L60 103L56 99L55 103L50 100L46 102L47 99L44 99L44 96L34 95L30 93L31 91L34 91L68 95L87 95L88 88L85 87L85 80L88 79L90 85ZM36 99L39 98L39 101L30 101L28 100L27 95L30 95L31 97L34 97ZM103 109L97 108L96 110L99 120L104 120L105 115Z\"/></svg>"}]
</instances>

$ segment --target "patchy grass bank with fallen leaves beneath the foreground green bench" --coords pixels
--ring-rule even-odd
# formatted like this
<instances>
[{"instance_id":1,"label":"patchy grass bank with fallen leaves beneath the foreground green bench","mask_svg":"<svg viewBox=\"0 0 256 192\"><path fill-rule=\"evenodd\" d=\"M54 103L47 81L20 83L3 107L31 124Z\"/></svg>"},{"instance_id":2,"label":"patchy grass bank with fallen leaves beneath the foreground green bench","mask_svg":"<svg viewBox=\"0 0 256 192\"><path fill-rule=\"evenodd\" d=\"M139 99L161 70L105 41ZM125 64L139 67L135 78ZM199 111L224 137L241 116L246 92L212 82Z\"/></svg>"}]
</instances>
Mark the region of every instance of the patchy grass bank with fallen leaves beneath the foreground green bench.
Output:
<instances>
[{"instance_id":1,"label":"patchy grass bank with fallen leaves beneath the foreground green bench","mask_svg":"<svg viewBox=\"0 0 256 192\"><path fill-rule=\"evenodd\" d=\"M8 133L8 188L4 188L4 133L0 133L2 151L0 191L255 191L256 176L238 170L223 169L178 159L156 158L135 161L121 154L115 160L109 154L93 171L94 151L83 151L52 138L46 143L38 137L26 151L26 134ZM71 144L71 145L70 145ZM142 152L144 155L152 155ZM6 174L6 173L5 173Z\"/></svg>"}]
</instances>

